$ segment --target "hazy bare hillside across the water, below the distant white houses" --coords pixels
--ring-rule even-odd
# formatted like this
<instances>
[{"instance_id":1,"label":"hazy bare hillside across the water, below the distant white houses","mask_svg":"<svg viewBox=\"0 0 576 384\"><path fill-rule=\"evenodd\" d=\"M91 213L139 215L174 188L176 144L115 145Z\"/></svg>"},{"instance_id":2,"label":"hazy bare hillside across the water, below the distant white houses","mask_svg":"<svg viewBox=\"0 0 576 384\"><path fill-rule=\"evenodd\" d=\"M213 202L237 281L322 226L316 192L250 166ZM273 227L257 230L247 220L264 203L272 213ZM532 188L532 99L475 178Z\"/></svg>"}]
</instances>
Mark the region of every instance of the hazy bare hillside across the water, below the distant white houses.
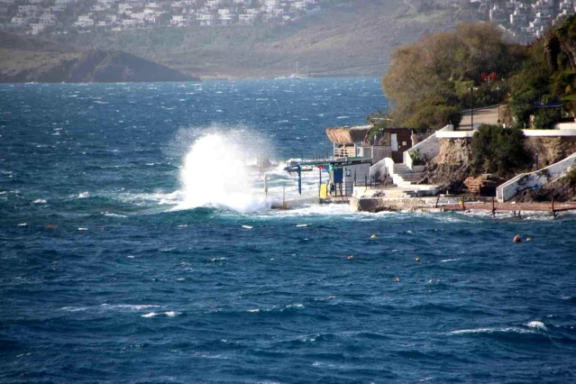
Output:
<instances>
[{"instance_id":1,"label":"hazy bare hillside across the water, below the distant white houses","mask_svg":"<svg viewBox=\"0 0 576 384\"><path fill-rule=\"evenodd\" d=\"M428 7L422 6L427 4ZM477 13L425 0L357 0L288 25L152 28L60 35L76 47L111 47L203 78L381 76L389 53Z\"/></svg>"}]
</instances>

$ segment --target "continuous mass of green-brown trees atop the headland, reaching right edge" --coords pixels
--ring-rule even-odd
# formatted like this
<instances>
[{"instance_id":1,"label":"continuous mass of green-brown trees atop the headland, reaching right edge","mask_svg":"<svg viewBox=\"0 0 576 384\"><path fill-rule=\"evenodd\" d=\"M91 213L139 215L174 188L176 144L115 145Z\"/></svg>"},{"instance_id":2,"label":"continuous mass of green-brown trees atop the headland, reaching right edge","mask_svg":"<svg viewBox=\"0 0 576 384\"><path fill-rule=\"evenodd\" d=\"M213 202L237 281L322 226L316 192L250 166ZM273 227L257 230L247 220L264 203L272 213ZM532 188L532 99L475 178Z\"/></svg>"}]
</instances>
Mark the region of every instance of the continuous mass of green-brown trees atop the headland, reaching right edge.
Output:
<instances>
[{"instance_id":1,"label":"continuous mass of green-brown trees atop the headland, reaching right edge","mask_svg":"<svg viewBox=\"0 0 576 384\"><path fill-rule=\"evenodd\" d=\"M417 133L458 125L472 92L475 107L497 104L497 87L508 125L550 129L576 115L576 15L529 46L490 23L462 23L399 47L392 59L382 88L394 107L382 121ZM495 81L486 81L491 72Z\"/></svg>"}]
</instances>

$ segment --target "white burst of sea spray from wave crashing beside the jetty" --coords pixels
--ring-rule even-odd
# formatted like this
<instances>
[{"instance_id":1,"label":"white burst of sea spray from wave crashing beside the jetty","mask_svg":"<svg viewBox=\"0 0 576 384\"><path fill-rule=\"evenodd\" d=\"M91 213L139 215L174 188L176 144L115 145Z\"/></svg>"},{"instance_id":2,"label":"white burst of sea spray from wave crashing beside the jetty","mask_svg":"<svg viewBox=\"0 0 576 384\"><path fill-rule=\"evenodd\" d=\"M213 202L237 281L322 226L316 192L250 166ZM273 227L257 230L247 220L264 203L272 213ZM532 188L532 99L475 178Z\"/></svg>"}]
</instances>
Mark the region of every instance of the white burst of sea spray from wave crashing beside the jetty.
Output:
<instances>
[{"instance_id":1,"label":"white burst of sea spray from wave crashing beside the jetty","mask_svg":"<svg viewBox=\"0 0 576 384\"><path fill-rule=\"evenodd\" d=\"M215 206L237 212L270 208L263 191L253 187L249 162L260 150L251 148L251 135L210 132L189 148L180 169L181 202L176 209Z\"/></svg>"}]
</instances>

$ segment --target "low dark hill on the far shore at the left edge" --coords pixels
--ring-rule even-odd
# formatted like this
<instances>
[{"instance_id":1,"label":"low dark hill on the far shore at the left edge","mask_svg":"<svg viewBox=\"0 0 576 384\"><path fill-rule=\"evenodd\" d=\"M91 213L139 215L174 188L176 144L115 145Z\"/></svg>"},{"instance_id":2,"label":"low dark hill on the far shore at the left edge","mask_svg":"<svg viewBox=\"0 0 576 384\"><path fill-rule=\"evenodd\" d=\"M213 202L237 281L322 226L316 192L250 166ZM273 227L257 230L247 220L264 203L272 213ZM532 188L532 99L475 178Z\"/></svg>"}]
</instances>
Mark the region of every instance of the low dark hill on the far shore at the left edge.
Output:
<instances>
[{"instance_id":1,"label":"low dark hill on the far shore at the left edge","mask_svg":"<svg viewBox=\"0 0 576 384\"><path fill-rule=\"evenodd\" d=\"M89 83L191 81L176 69L120 50L70 50L59 44L0 35L0 82Z\"/></svg>"}]
</instances>

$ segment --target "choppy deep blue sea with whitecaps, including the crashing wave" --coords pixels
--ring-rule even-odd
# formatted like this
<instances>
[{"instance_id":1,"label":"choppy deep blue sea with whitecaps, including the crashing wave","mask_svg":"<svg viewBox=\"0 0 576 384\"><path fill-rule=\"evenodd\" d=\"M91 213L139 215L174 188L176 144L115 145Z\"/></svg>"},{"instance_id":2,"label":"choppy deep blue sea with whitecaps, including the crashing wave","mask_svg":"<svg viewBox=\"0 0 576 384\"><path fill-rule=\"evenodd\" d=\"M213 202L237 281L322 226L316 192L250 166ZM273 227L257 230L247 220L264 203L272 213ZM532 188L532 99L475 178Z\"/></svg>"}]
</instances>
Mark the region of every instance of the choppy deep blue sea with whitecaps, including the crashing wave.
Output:
<instances>
[{"instance_id":1,"label":"choppy deep blue sea with whitecaps, including the crashing wave","mask_svg":"<svg viewBox=\"0 0 576 384\"><path fill-rule=\"evenodd\" d=\"M270 210L285 160L386 105L378 78L0 86L0 382L576 382L575 215Z\"/></svg>"}]
</instances>

